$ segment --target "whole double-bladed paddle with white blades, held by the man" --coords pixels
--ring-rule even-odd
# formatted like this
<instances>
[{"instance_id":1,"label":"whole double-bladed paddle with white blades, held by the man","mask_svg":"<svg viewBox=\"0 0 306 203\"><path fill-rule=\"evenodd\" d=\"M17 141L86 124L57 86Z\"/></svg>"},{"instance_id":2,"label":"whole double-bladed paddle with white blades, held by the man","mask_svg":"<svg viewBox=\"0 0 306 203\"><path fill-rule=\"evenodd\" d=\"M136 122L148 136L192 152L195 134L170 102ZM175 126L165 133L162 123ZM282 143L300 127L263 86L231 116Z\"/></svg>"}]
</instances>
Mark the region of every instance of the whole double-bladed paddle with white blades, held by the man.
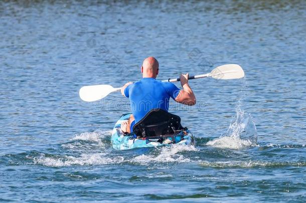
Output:
<instances>
[{"instance_id":1,"label":"whole double-bladed paddle with white blades, held by the man","mask_svg":"<svg viewBox=\"0 0 306 203\"><path fill-rule=\"evenodd\" d=\"M242 68L237 64L226 64L218 66L210 73L189 76L188 79L192 80L192 79L206 78L206 77L212 77L214 79L221 79L221 80L239 79L244 77L244 72ZM163 82L176 82L176 81L180 81L180 78L163 80ZM113 88L111 85L91 85L91 86L82 87L79 91L79 94L80 98L83 101L92 102L103 99L110 93L119 90L121 90L121 87Z\"/></svg>"}]
</instances>

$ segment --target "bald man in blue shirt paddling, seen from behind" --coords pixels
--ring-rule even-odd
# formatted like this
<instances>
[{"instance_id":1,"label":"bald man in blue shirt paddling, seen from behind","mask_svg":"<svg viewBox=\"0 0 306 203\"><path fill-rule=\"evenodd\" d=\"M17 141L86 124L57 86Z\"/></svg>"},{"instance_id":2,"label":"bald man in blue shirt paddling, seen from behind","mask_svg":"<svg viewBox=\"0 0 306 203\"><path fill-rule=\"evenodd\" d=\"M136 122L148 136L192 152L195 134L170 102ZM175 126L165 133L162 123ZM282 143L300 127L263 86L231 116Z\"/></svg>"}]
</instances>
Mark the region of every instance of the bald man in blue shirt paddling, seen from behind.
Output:
<instances>
[{"instance_id":1,"label":"bald man in blue shirt paddling, seen from behind","mask_svg":"<svg viewBox=\"0 0 306 203\"><path fill-rule=\"evenodd\" d=\"M141 80L135 83L128 82L121 88L121 94L129 98L132 109L129 120L121 123L123 132L130 133L134 124L152 109L168 111L170 97L182 104L196 104L196 97L188 84L188 73L180 76L182 90L173 83L156 80L159 62L154 57L148 57L143 61L141 73Z\"/></svg>"}]
</instances>

